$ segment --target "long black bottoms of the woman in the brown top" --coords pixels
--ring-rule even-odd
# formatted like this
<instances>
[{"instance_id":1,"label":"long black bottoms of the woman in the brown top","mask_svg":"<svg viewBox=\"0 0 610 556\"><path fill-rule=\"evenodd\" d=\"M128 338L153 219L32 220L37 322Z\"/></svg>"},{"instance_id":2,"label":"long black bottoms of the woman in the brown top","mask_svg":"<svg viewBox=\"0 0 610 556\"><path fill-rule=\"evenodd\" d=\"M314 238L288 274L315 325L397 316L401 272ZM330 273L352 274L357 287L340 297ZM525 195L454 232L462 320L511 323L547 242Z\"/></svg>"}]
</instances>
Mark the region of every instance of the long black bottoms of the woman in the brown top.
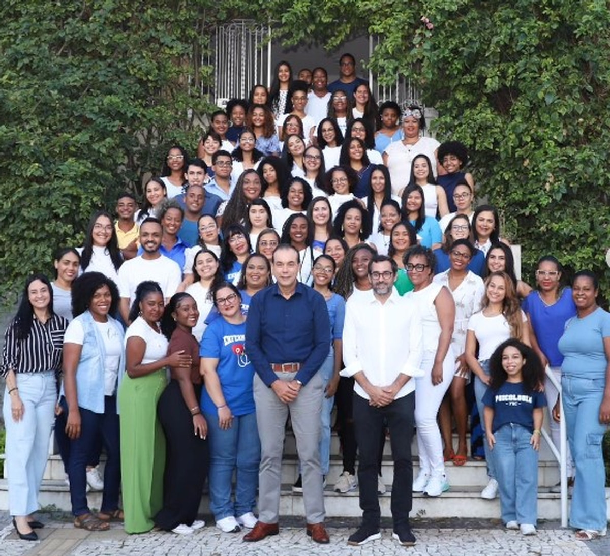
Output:
<instances>
[{"instance_id":1,"label":"long black bottoms of the woman in the brown top","mask_svg":"<svg viewBox=\"0 0 610 556\"><path fill-rule=\"evenodd\" d=\"M201 387L195 386L199 399ZM160 529L169 531L179 524L192 524L197 517L201 491L210 466L207 440L193 432L193 416L188 411L178 380L171 380L157 404L157 415L166 439L163 507L154 516Z\"/></svg>"}]
</instances>

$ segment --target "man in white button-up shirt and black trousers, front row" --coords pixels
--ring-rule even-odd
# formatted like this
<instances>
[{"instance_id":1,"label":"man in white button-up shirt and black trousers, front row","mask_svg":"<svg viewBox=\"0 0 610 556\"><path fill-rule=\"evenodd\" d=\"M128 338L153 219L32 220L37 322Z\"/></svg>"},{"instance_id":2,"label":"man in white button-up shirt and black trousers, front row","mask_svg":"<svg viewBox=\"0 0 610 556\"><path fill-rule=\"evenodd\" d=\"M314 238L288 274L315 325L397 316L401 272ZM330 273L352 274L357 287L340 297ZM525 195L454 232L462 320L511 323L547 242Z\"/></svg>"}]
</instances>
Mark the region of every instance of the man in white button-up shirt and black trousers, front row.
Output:
<instances>
[{"instance_id":1,"label":"man in white button-up shirt and black trousers, front row","mask_svg":"<svg viewBox=\"0 0 610 556\"><path fill-rule=\"evenodd\" d=\"M373 289L352 296L345 309L342 376L354 377L353 419L360 452L358 482L362 524L348 538L361 545L381 537L377 472L379 437L390 429L394 480L392 483L393 538L413 546L409 526L413 466L411 441L415 423L415 380L422 376L422 323L417 309L393 288L398 268L385 255L368 265Z\"/></svg>"}]
</instances>

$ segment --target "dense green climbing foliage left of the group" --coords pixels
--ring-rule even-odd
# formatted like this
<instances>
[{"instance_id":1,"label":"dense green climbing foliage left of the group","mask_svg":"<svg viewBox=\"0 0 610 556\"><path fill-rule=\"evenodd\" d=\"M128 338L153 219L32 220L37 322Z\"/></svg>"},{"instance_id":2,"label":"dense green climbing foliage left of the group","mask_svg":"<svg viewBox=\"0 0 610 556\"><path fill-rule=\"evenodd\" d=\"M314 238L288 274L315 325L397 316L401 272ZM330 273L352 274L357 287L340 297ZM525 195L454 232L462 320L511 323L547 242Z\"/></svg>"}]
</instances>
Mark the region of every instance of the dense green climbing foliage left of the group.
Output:
<instances>
[{"instance_id":1,"label":"dense green climbing foliage left of the group","mask_svg":"<svg viewBox=\"0 0 610 556\"><path fill-rule=\"evenodd\" d=\"M194 148L210 0L0 4L0 293L79 245L93 210Z\"/></svg>"}]
</instances>

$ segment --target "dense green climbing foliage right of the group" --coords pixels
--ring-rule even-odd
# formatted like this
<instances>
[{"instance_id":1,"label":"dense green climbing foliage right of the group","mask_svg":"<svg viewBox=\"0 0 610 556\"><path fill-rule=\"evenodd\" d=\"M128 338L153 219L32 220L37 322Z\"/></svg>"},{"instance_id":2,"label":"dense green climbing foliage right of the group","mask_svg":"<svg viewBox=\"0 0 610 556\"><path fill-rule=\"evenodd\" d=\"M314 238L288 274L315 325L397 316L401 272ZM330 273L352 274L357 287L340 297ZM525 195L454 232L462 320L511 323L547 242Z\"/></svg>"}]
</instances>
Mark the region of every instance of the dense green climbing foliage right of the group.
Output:
<instances>
[{"instance_id":1,"label":"dense green climbing foliage right of the group","mask_svg":"<svg viewBox=\"0 0 610 556\"><path fill-rule=\"evenodd\" d=\"M607 2L265 0L253 9L290 44L379 35L368 65L388 83L412 77L439 111L437 138L467 144L479 195L523 246L525 277L553 253L605 277L608 298Z\"/></svg>"}]
</instances>

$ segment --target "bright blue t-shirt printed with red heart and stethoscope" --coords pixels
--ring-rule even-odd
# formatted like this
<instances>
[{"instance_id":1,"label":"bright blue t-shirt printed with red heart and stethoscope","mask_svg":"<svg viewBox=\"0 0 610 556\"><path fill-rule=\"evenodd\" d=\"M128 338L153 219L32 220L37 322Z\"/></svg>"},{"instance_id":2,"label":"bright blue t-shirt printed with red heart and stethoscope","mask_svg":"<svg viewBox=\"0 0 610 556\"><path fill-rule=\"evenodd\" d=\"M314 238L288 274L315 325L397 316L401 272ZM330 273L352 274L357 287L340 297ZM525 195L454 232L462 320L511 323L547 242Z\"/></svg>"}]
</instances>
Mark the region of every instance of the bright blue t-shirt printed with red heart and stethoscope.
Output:
<instances>
[{"instance_id":1,"label":"bright blue t-shirt printed with red heart and stethoscope","mask_svg":"<svg viewBox=\"0 0 610 556\"><path fill-rule=\"evenodd\" d=\"M245 351L246 323L231 324L224 318L210 323L199 344L199 355L218 359L216 372L224 401L235 416L254 413L254 365ZM206 388L201 390L204 413L216 415L217 408Z\"/></svg>"}]
</instances>

